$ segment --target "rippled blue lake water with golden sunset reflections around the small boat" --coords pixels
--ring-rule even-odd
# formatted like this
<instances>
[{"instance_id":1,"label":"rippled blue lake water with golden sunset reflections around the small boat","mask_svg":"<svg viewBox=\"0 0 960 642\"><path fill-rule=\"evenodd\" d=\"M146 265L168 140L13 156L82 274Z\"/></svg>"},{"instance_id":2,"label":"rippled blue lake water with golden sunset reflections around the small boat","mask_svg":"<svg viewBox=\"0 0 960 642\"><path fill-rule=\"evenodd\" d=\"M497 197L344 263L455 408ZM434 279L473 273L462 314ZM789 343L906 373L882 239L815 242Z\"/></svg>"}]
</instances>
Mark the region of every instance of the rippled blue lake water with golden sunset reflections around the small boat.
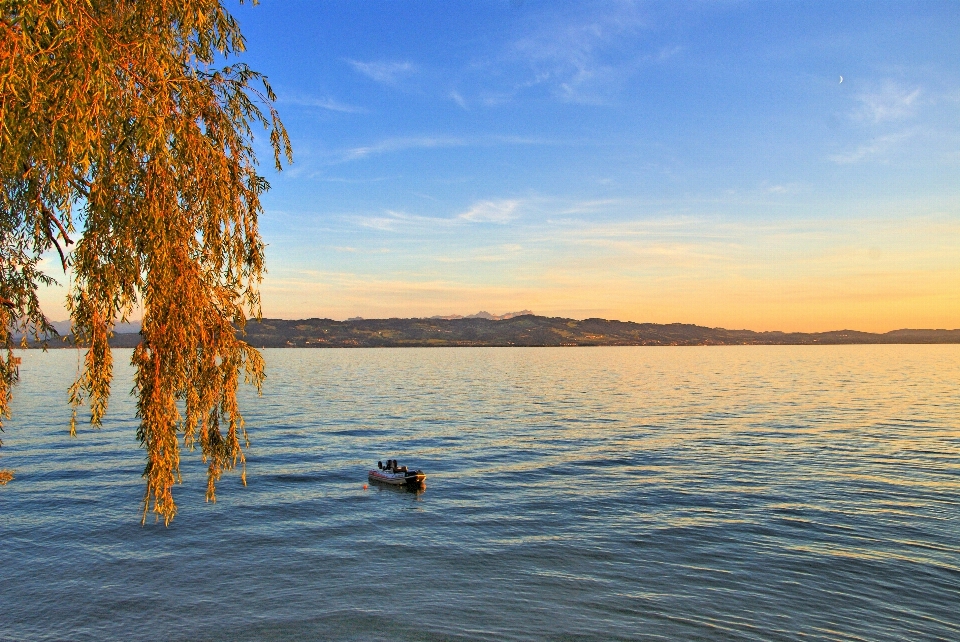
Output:
<instances>
[{"instance_id":1,"label":"rippled blue lake water with golden sunset reflections around the small boat","mask_svg":"<svg viewBox=\"0 0 960 642\"><path fill-rule=\"evenodd\" d=\"M169 528L117 353L77 438L23 355L0 639L960 639L960 346L266 350L249 485L184 453Z\"/></svg>"}]
</instances>

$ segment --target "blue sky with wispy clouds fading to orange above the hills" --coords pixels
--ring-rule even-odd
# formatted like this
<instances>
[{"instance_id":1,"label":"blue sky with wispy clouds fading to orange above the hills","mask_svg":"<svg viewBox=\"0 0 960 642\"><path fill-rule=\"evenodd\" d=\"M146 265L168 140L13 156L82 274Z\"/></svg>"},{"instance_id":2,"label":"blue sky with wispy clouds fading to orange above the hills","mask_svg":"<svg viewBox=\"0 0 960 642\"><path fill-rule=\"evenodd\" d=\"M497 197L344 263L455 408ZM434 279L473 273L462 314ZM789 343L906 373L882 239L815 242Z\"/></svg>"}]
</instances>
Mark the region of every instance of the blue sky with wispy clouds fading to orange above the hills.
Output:
<instances>
[{"instance_id":1,"label":"blue sky with wispy clouds fading to orange above the hills","mask_svg":"<svg viewBox=\"0 0 960 642\"><path fill-rule=\"evenodd\" d=\"M228 6L267 317L960 327L960 3Z\"/></svg>"}]
</instances>

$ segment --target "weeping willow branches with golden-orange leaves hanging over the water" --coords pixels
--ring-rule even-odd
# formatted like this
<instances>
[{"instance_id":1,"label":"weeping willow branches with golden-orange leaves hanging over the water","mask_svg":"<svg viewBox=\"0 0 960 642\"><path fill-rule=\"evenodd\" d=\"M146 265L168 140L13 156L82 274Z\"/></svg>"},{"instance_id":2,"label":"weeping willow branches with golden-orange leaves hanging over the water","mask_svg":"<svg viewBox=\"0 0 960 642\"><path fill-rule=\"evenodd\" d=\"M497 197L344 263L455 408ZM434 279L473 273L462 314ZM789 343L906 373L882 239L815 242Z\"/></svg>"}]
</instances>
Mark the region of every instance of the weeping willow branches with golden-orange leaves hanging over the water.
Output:
<instances>
[{"instance_id":1,"label":"weeping willow branches with golden-orange leaves hanging over the water","mask_svg":"<svg viewBox=\"0 0 960 642\"><path fill-rule=\"evenodd\" d=\"M242 1L242 0L241 0ZM15 335L52 328L38 288L56 252L85 356L69 390L99 426L112 377L108 338L134 310L134 393L146 451L143 517L169 523L181 449L199 442L207 498L244 462L241 378L263 359L239 336L259 316L269 187L254 128L277 169L292 160L266 79L243 64L219 0L0 0L0 418L18 379ZM2 427L2 424L0 424ZM241 475L241 478L245 477Z\"/></svg>"}]
</instances>

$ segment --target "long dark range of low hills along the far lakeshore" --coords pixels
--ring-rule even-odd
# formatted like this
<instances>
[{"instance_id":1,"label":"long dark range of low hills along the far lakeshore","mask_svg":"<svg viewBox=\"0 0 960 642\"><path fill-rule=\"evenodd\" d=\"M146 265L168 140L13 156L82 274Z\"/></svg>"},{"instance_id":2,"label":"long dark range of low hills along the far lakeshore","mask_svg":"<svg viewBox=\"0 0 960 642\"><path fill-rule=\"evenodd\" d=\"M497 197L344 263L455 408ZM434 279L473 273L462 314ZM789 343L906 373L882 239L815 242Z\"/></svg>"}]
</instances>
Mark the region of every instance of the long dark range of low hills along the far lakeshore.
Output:
<instances>
[{"instance_id":1,"label":"long dark range of low hills along the far lakeshore","mask_svg":"<svg viewBox=\"0 0 960 642\"><path fill-rule=\"evenodd\" d=\"M399 348L419 346L709 346L960 343L960 330L894 330L884 334L753 332L687 323L634 323L606 319L564 319L525 314L501 320L459 319L263 319L247 324L247 341L257 348ZM133 347L137 333L118 333L115 347ZM64 344L55 340L50 347Z\"/></svg>"}]
</instances>

